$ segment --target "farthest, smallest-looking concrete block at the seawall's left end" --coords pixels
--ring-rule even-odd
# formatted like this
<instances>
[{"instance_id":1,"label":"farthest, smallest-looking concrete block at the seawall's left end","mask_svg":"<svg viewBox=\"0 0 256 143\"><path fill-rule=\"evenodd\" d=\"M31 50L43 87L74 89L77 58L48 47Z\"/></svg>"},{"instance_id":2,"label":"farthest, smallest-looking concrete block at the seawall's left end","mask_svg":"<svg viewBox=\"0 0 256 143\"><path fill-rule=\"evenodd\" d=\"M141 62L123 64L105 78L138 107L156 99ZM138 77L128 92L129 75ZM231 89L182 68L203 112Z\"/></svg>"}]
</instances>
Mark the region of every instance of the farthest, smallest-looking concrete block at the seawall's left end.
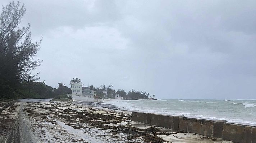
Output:
<instances>
[{"instance_id":1,"label":"farthest, smallest-looking concrete block at the seawall's left end","mask_svg":"<svg viewBox=\"0 0 256 143\"><path fill-rule=\"evenodd\" d=\"M151 113L132 112L132 121L151 124Z\"/></svg>"}]
</instances>

